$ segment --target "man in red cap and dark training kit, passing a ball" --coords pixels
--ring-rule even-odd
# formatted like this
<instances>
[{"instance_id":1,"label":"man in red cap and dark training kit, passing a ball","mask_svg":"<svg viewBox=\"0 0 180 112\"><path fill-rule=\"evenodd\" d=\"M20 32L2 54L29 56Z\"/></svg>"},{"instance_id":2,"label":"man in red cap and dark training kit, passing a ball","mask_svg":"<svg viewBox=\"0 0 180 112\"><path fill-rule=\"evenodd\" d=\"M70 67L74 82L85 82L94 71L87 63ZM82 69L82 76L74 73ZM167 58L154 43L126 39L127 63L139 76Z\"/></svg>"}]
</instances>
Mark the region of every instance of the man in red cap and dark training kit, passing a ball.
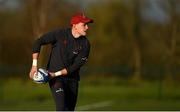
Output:
<instances>
[{"instance_id":1,"label":"man in red cap and dark training kit, passing a ball","mask_svg":"<svg viewBox=\"0 0 180 112\"><path fill-rule=\"evenodd\" d=\"M90 52L90 43L85 36L88 23L92 22L84 14L76 14L71 18L71 28L51 31L37 39L33 45L31 79L38 69L41 46L52 45L47 70L51 76L49 86L58 111L75 109L79 70L86 63Z\"/></svg>"}]
</instances>

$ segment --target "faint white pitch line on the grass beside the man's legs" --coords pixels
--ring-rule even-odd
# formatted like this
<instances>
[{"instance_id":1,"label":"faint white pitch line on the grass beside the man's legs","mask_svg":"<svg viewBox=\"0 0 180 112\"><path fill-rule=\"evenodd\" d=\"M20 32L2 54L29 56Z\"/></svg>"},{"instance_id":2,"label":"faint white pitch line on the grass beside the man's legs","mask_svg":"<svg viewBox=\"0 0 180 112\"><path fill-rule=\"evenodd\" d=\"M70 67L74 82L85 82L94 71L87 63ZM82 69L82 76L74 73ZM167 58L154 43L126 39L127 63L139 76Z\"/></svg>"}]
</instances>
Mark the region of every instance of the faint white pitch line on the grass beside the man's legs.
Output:
<instances>
[{"instance_id":1,"label":"faint white pitch line on the grass beside the man's legs","mask_svg":"<svg viewBox=\"0 0 180 112\"><path fill-rule=\"evenodd\" d=\"M104 102L98 102L98 103L93 103L93 104L88 104L84 106L79 106L77 107L77 110L89 110L89 109L94 109L94 108L101 108L101 107L106 107L112 105L112 101L104 101Z\"/></svg>"}]
</instances>

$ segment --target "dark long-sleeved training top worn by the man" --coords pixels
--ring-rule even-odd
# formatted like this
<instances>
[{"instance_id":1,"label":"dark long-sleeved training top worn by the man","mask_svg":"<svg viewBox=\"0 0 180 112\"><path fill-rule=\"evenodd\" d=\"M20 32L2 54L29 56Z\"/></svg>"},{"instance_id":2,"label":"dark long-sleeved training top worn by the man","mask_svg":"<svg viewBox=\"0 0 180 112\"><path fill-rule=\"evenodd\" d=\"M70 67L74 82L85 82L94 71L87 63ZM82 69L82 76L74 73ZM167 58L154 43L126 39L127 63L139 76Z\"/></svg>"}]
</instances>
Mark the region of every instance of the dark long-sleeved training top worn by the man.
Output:
<instances>
[{"instance_id":1,"label":"dark long-sleeved training top worn by the man","mask_svg":"<svg viewBox=\"0 0 180 112\"><path fill-rule=\"evenodd\" d=\"M38 38L33 44L33 53L39 53L41 46L51 44L52 49L47 70L57 72L63 68L68 74L59 76L79 80L79 70L88 59L90 43L85 36L74 38L71 28L57 29Z\"/></svg>"}]
</instances>

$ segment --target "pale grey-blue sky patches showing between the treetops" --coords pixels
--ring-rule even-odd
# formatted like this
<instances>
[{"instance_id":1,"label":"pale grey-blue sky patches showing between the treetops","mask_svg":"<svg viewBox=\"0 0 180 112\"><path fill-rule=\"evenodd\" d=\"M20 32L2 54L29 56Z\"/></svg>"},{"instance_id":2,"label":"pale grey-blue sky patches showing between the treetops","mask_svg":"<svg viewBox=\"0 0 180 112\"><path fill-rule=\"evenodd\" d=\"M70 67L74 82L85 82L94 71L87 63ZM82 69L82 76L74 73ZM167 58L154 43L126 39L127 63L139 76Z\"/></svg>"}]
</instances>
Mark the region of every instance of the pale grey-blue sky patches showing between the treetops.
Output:
<instances>
[{"instance_id":1,"label":"pale grey-blue sky patches showing between the treetops","mask_svg":"<svg viewBox=\"0 0 180 112\"><path fill-rule=\"evenodd\" d=\"M21 3L19 1L20 0L0 0L0 9L5 9L5 10L18 9L21 6ZM85 10L89 4L97 2L97 0L68 0L68 1L79 5L80 8L82 8L83 10ZM117 2L119 0L98 0L98 2L107 2L107 1ZM123 0L123 1L127 1L127 0ZM162 6L168 8L167 0L144 0L144 1L146 5L145 7L143 7L143 10L141 10L142 19L146 21L154 21L157 23L165 23L169 21L170 18L168 12L162 8Z\"/></svg>"}]
</instances>

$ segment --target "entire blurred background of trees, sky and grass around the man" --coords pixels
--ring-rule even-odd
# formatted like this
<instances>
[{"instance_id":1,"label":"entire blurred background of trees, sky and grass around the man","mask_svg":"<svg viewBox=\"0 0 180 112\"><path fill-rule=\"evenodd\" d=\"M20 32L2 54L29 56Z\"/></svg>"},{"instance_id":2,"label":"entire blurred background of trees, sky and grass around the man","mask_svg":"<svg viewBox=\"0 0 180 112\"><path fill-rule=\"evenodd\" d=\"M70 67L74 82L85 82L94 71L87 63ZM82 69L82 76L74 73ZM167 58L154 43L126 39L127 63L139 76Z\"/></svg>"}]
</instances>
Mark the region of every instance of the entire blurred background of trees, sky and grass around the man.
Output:
<instances>
[{"instance_id":1,"label":"entire blurred background of trees, sky and grass around the man","mask_svg":"<svg viewBox=\"0 0 180 112\"><path fill-rule=\"evenodd\" d=\"M95 22L76 110L180 110L180 0L0 0L0 110L55 110L32 44L77 12Z\"/></svg>"}]
</instances>

